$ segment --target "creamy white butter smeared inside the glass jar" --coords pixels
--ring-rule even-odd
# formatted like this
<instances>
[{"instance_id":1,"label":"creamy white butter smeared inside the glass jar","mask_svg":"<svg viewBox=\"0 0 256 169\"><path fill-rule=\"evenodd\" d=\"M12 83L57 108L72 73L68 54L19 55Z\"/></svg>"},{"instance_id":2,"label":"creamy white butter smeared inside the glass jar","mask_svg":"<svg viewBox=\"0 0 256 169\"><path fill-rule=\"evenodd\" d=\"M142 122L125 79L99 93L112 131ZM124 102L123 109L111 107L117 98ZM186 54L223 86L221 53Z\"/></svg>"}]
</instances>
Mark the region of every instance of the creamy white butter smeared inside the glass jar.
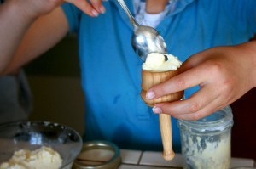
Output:
<instances>
[{"instance_id":1,"label":"creamy white butter smeared inside the glass jar","mask_svg":"<svg viewBox=\"0 0 256 169\"><path fill-rule=\"evenodd\" d=\"M182 133L184 168L230 168L230 132L216 136L191 136Z\"/></svg>"}]
</instances>

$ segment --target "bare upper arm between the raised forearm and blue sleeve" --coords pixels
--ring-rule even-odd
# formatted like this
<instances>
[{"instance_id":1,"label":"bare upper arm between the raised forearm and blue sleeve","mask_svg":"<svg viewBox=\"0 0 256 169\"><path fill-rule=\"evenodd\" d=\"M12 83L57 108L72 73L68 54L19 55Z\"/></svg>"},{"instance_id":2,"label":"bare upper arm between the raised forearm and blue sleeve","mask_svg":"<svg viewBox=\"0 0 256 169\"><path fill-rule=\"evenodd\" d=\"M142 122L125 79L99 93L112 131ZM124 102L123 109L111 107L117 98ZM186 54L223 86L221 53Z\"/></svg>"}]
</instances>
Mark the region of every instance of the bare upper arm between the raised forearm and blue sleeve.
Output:
<instances>
[{"instance_id":1,"label":"bare upper arm between the raised forearm and blue sleeve","mask_svg":"<svg viewBox=\"0 0 256 169\"><path fill-rule=\"evenodd\" d=\"M3 74L9 74L25 65L67 35L68 24L62 9L55 8L50 14L41 16L26 31L13 59Z\"/></svg>"}]
</instances>

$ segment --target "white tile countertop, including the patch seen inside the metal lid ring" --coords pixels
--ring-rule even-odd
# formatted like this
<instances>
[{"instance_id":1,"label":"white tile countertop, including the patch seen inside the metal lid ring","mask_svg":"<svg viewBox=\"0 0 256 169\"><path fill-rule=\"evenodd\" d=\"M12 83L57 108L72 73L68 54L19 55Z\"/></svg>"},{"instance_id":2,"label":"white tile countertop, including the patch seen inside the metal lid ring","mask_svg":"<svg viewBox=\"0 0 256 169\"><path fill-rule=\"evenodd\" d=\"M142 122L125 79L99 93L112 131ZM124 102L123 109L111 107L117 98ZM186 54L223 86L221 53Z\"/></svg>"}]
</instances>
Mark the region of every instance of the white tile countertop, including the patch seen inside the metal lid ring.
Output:
<instances>
[{"instance_id":1,"label":"white tile countertop, including the patch seen inside the metal lid ring","mask_svg":"<svg viewBox=\"0 0 256 169\"><path fill-rule=\"evenodd\" d=\"M87 149L79 155L79 161L87 165L101 166L107 164L113 155L113 150L109 149ZM120 149L120 156L122 160L118 169L183 168L181 154L176 154L172 161L166 161L161 152ZM231 167L254 165L253 159L231 158Z\"/></svg>"}]
</instances>

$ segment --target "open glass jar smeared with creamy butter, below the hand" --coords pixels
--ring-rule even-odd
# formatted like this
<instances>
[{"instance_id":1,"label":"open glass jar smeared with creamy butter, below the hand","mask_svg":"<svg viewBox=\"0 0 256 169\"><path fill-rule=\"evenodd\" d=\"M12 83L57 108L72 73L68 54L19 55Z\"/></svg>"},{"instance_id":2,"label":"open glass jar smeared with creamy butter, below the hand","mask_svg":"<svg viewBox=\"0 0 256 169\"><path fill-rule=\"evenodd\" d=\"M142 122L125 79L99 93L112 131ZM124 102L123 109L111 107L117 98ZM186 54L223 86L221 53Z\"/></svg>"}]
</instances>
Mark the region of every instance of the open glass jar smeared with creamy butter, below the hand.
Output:
<instances>
[{"instance_id":1,"label":"open glass jar smeared with creamy butter, below the hand","mask_svg":"<svg viewBox=\"0 0 256 169\"><path fill-rule=\"evenodd\" d=\"M230 168L231 108L225 107L198 121L178 120L184 168Z\"/></svg>"}]
</instances>

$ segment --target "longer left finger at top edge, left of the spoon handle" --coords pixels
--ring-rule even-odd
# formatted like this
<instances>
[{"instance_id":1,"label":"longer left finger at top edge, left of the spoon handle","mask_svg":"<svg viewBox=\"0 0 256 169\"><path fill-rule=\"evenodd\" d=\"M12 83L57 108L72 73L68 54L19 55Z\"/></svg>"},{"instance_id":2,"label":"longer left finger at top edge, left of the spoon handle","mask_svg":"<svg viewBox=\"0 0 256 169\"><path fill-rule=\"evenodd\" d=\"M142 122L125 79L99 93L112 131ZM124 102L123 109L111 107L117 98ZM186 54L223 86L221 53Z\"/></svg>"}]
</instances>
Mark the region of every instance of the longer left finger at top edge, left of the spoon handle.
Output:
<instances>
[{"instance_id":1,"label":"longer left finger at top edge, left of the spoon handle","mask_svg":"<svg viewBox=\"0 0 256 169\"><path fill-rule=\"evenodd\" d=\"M68 3L73 3L76 7L82 10L85 14L89 14L90 16L97 16L99 13L95 8L92 8L90 3L86 0L65 0Z\"/></svg>"}]
</instances>

